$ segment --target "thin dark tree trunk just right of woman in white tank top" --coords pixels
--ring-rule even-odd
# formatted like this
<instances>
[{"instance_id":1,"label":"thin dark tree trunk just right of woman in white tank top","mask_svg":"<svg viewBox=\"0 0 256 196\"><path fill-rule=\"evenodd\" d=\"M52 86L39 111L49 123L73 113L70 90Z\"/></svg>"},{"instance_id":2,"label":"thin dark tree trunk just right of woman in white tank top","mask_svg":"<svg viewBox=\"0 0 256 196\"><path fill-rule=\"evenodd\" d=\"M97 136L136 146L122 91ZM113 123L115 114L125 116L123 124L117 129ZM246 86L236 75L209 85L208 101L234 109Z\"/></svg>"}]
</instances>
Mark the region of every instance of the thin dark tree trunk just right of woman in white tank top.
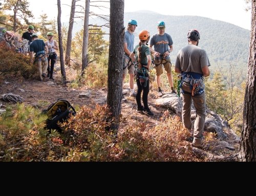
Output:
<instances>
[{"instance_id":1,"label":"thin dark tree trunk just right of woman in white tank top","mask_svg":"<svg viewBox=\"0 0 256 196\"><path fill-rule=\"evenodd\" d=\"M62 76L62 81L66 82L66 72L65 72L65 64L64 64L64 58L63 58L63 44L62 44L62 33L61 33L61 6L60 6L60 0L57 0L57 6L58 6L58 16L57 16L57 24L58 24L58 38L59 38L59 60L60 60L60 71Z\"/></svg>"}]
</instances>

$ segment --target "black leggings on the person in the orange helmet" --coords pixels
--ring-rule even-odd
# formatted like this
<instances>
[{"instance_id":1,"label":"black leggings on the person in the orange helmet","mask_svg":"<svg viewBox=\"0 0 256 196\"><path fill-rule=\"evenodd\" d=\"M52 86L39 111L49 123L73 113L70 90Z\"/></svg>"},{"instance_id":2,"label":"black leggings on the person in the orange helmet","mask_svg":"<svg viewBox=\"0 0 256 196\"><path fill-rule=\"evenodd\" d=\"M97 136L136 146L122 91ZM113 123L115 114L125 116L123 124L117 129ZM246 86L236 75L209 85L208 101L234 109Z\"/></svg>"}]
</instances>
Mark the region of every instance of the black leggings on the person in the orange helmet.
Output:
<instances>
[{"instance_id":1,"label":"black leggings on the person in the orange helmet","mask_svg":"<svg viewBox=\"0 0 256 196\"><path fill-rule=\"evenodd\" d=\"M137 91L137 95L136 95L137 105L138 105L138 107L142 107L142 105L141 105L141 92L143 90L142 101L143 101L143 105L144 105L145 110L147 110L148 109L147 96L148 96L148 93L150 92L150 79L148 79L146 81L147 82L146 87L144 87L145 82L140 83L139 79L136 79L136 80L137 80L137 86L138 86L138 91Z\"/></svg>"}]
</instances>

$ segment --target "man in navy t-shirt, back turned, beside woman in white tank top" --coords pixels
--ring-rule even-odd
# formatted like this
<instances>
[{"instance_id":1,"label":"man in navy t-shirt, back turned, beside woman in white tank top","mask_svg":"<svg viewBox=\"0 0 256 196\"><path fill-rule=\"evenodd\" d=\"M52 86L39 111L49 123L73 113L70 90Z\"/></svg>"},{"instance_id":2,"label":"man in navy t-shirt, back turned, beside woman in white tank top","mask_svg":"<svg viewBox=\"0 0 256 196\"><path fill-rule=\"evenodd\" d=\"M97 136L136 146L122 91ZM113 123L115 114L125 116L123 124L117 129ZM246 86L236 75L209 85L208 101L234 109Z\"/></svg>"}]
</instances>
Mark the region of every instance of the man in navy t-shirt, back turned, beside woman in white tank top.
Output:
<instances>
[{"instance_id":1,"label":"man in navy t-shirt, back turned, beside woman in white tank top","mask_svg":"<svg viewBox=\"0 0 256 196\"><path fill-rule=\"evenodd\" d=\"M46 78L46 72L48 68L48 47L46 46L44 40L38 39L38 36L36 33L32 34L32 42L29 46L30 48L30 62L33 63L33 54L35 53L35 62L37 64L37 68L39 71L39 81L42 81L42 77ZM42 68L41 63L44 63L44 66Z\"/></svg>"}]
</instances>

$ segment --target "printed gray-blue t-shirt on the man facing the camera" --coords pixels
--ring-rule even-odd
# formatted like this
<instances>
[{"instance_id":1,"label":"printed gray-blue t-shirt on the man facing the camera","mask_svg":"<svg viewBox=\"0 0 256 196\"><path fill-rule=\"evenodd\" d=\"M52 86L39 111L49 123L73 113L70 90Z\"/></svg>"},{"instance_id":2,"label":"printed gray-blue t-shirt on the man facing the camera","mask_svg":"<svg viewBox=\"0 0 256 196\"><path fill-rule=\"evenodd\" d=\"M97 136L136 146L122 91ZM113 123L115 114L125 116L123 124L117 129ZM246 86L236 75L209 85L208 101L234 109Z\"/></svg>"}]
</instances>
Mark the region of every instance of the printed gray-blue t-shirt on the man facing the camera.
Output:
<instances>
[{"instance_id":1,"label":"printed gray-blue t-shirt on the man facing the camera","mask_svg":"<svg viewBox=\"0 0 256 196\"><path fill-rule=\"evenodd\" d=\"M167 50L169 50L169 46L173 45L173 39L167 33L164 33L163 35L159 35L158 33L156 33L152 36L150 40L150 45L152 47L154 46L154 50L156 52L163 54Z\"/></svg>"}]
</instances>

